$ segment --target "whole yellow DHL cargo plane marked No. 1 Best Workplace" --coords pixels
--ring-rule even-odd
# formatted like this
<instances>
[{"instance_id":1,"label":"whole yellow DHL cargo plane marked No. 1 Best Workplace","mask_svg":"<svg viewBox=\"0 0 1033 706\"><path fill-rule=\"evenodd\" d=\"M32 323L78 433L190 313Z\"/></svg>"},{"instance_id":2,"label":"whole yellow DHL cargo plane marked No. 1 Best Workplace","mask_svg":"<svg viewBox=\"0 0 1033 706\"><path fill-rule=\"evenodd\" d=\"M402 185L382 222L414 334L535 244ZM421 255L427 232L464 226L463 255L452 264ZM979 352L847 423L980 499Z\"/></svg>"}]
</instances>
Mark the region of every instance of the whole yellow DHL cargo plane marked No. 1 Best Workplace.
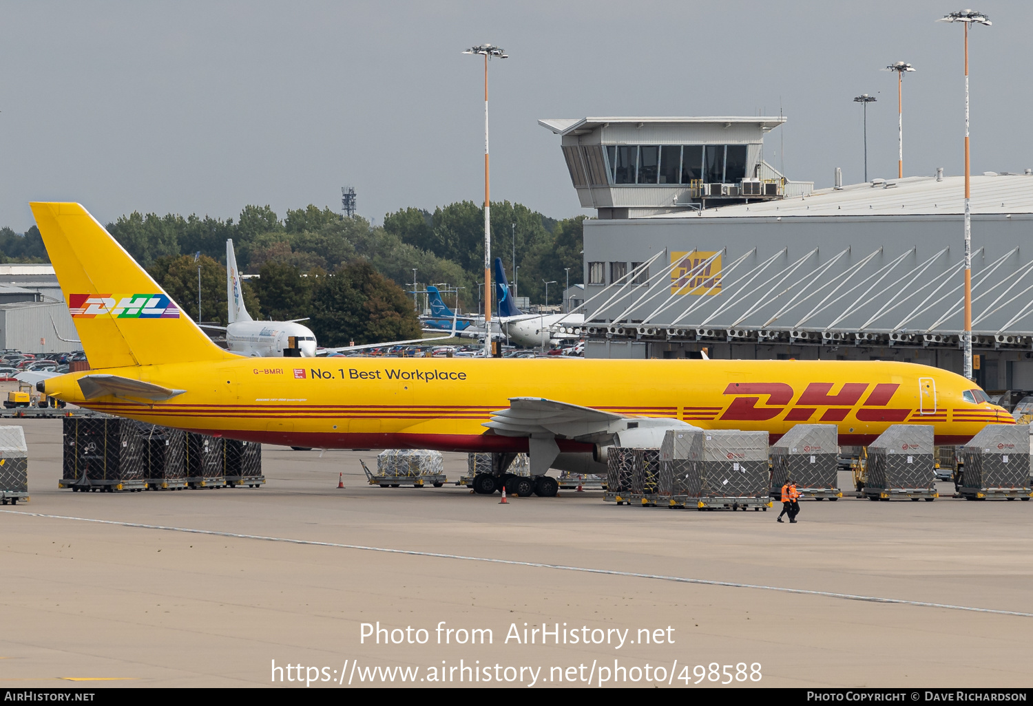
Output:
<instances>
[{"instance_id":1,"label":"whole yellow DHL cargo plane marked No. 1 Best Workplace","mask_svg":"<svg viewBox=\"0 0 1033 706\"><path fill-rule=\"evenodd\" d=\"M823 422L865 445L890 424L961 444L1013 423L963 377L900 362L244 358L213 344L82 205L32 212L93 367L38 388L122 417L286 446L487 451L500 475L529 452L545 495L550 468L604 472L613 445L658 446L679 426L774 441Z\"/></svg>"}]
</instances>

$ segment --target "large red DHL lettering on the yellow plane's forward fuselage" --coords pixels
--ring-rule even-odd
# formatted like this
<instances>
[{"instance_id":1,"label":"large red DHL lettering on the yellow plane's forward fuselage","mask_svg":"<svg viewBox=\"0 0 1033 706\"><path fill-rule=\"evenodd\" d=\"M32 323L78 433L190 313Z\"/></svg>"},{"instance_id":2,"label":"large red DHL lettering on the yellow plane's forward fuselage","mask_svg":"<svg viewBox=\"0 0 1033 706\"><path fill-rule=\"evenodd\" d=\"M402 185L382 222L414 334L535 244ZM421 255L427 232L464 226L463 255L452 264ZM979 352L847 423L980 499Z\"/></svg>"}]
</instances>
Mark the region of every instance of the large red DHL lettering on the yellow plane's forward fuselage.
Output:
<instances>
[{"instance_id":1,"label":"large red DHL lettering on the yellow plane's forward fuselage","mask_svg":"<svg viewBox=\"0 0 1033 706\"><path fill-rule=\"evenodd\" d=\"M860 409L854 412L854 416L858 421L899 422L907 419L912 412L910 407L888 407L900 387L898 383L877 383L867 396L865 393L873 387L870 383L843 383L839 392L832 394L834 384L809 383L790 407L795 390L787 383L729 383L724 394L737 396L720 419L766 421L785 412L786 421L805 422L810 421L819 408L827 408L816 421L840 422L846 419L857 403L860 403ZM766 404L759 405L764 395Z\"/></svg>"}]
</instances>

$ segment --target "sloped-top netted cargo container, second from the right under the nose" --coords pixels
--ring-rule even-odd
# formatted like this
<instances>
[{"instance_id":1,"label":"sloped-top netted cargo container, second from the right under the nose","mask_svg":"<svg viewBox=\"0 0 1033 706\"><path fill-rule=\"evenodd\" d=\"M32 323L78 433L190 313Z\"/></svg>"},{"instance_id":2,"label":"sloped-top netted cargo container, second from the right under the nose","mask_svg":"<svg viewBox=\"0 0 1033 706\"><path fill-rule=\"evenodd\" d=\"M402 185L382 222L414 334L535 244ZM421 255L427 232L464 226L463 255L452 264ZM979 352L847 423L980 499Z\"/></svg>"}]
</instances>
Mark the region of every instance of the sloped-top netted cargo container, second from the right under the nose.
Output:
<instances>
[{"instance_id":1,"label":"sloped-top netted cargo container, second from the right under the nose","mask_svg":"<svg viewBox=\"0 0 1033 706\"><path fill-rule=\"evenodd\" d=\"M893 424L868 447L865 488L870 500L936 500L933 427Z\"/></svg>"}]
</instances>

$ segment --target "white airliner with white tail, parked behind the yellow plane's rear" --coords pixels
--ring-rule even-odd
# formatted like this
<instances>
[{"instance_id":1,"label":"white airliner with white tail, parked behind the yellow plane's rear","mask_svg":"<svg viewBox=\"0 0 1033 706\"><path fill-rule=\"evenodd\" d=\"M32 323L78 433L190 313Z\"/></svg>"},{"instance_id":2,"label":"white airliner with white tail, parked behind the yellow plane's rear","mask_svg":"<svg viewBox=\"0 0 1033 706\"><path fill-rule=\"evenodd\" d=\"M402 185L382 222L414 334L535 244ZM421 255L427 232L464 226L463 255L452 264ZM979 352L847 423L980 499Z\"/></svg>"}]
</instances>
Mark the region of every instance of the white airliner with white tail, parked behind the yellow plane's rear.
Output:
<instances>
[{"instance_id":1,"label":"white airliner with white tail, parked behind the yellow plane's rear","mask_svg":"<svg viewBox=\"0 0 1033 706\"><path fill-rule=\"evenodd\" d=\"M241 272L237 268L233 242L226 240L226 299L229 303L228 326L211 326L226 331L226 348L249 357L294 356L314 358L316 336L293 321L255 321L244 306Z\"/></svg>"}]
</instances>

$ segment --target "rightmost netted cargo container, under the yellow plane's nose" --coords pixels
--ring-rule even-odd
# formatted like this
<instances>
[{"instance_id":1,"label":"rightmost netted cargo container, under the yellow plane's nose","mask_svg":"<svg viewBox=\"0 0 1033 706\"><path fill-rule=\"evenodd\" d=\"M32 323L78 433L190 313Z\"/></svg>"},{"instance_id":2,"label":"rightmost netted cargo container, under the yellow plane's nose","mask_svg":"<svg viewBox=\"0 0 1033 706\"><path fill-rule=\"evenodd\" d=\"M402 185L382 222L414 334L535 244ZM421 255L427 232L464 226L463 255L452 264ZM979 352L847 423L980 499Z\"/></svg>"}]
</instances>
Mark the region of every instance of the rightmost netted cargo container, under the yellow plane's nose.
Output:
<instances>
[{"instance_id":1,"label":"rightmost netted cargo container, under the yellow plane's nose","mask_svg":"<svg viewBox=\"0 0 1033 706\"><path fill-rule=\"evenodd\" d=\"M1029 435L1028 424L988 424L962 447L965 500L1030 499Z\"/></svg>"}]
</instances>

